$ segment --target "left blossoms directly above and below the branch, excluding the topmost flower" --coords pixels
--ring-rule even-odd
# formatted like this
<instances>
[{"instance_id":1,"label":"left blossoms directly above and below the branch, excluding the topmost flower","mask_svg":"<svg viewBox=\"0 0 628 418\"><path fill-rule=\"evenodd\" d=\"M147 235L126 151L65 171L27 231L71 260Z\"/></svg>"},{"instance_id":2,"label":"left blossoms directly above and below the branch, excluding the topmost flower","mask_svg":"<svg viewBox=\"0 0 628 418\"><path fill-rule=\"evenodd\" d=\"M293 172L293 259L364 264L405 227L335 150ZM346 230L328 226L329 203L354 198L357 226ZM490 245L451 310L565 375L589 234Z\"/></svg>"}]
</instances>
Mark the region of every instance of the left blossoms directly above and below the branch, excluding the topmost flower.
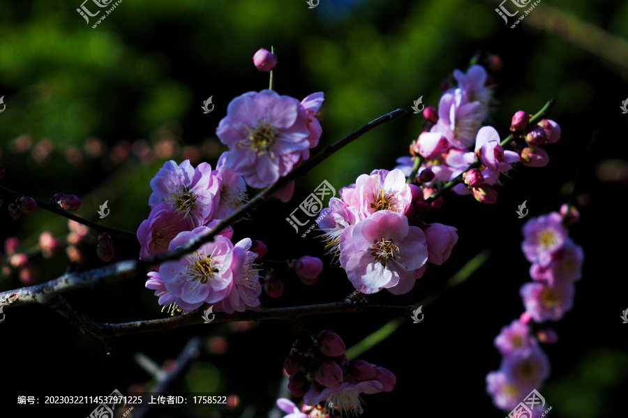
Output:
<instances>
[{"instance_id":1,"label":"left blossoms directly above and below the branch, excluding the topmost flower","mask_svg":"<svg viewBox=\"0 0 628 418\"><path fill-rule=\"evenodd\" d=\"M244 180L225 162L216 170L189 161L167 161L151 180L151 213L137 230L140 258L174 251L190 239L210 230L218 219L229 216L246 199ZM214 241L174 262L164 262L151 271L146 287L155 290L158 303L169 311L190 312L203 304L216 311L244 311L260 304L260 283L250 251L251 239L232 244L233 230L223 230Z\"/></svg>"}]
</instances>

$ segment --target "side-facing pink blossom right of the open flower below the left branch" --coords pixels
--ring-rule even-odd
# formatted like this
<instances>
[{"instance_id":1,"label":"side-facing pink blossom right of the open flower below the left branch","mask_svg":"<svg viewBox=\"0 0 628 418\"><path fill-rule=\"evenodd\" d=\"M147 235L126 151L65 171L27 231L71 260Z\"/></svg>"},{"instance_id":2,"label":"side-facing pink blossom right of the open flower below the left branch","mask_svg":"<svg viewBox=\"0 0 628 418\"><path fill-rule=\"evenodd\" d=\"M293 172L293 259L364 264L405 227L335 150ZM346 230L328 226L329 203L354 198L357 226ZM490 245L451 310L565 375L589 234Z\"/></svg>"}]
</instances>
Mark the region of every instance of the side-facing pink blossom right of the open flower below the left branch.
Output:
<instances>
[{"instance_id":1,"label":"side-facing pink blossom right of the open flower below the left branch","mask_svg":"<svg viewBox=\"0 0 628 418\"><path fill-rule=\"evenodd\" d=\"M225 299L216 302L216 312L234 313L244 312L246 306L260 306L260 276L253 265L257 254L249 251L252 241L245 238L233 246L233 261L231 270L233 273L233 287Z\"/></svg>"}]
</instances>

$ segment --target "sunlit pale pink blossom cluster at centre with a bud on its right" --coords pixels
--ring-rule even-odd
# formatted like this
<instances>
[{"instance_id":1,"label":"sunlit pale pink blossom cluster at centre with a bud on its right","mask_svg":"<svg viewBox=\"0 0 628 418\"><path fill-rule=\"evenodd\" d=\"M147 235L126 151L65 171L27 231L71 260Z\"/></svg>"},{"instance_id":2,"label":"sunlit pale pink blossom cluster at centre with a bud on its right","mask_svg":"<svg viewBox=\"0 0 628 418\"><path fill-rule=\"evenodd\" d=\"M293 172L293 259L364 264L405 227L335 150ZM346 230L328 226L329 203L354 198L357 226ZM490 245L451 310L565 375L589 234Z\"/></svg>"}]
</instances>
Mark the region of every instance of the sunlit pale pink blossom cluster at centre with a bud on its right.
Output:
<instances>
[{"instance_id":1,"label":"sunlit pale pink blossom cluster at centre with a bud on its right","mask_svg":"<svg viewBox=\"0 0 628 418\"><path fill-rule=\"evenodd\" d=\"M318 225L329 253L339 257L360 292L409 292L426 262L442 264L458 242L454 227L410 223L429 204L419 187L406 184L401 170L362 174L340 195L329 200Z\"/></svg>"}]
</instances>

